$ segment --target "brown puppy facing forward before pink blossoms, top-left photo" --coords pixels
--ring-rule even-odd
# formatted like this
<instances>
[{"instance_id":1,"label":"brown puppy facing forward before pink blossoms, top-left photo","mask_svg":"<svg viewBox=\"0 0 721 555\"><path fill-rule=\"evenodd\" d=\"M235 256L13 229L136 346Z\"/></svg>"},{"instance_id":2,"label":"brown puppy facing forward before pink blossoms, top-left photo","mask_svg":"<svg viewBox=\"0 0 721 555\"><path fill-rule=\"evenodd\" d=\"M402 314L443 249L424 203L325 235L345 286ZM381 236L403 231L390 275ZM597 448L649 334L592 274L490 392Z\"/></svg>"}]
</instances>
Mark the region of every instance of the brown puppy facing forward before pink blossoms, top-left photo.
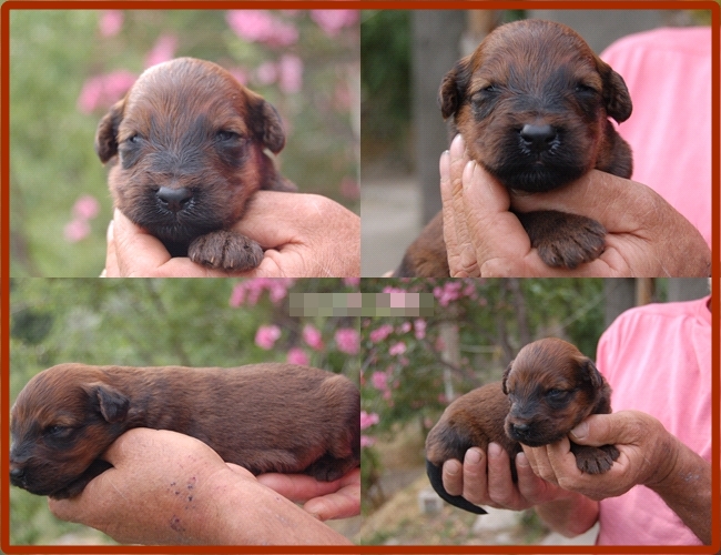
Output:
<instances>
[{"instance_id":1,"label":"brown puppy facing forward before pink blossoms, top-left photo","mask_svg":"<svg viewBox=\"0 0 721 555\"><path fill-rule=\"evenodd\" d=\"M264 149L285 134L275 109L220 65L179 58L146 70L98 127L115 208L172 256L250 270L261 245L230 231L258 189L295 191Z\"/></svg>"}]
</instances>

